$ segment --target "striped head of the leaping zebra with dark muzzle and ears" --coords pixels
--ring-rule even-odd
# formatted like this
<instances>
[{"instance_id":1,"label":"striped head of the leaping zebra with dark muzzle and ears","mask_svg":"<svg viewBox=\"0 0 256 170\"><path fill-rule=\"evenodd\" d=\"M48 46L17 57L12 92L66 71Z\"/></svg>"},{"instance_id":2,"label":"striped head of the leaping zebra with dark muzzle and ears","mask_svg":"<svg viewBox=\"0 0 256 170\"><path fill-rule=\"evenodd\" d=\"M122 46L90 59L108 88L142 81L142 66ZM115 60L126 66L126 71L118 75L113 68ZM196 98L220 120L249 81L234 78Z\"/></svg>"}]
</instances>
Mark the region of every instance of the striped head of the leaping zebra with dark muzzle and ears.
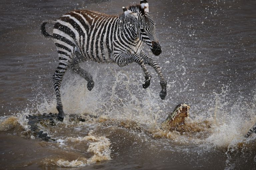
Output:
<instances>
[{"instance_id":1,"label":"striped head of the leaping zebra with dark muzzle and ears","mask_svg":"<svg viewBox=\"0 0 256 170\"><path fill-rule=\"evenodd\" d=\"M133 9L130 11L123 7L124 14L136 20L137 36L141 41L148 44L154 55L159 55L161 54L162 49L156 38L156 24L149 16L148 2L146 0L141 0L138 7L141 9L134 12Z\"/></svg>"}]
</instances>

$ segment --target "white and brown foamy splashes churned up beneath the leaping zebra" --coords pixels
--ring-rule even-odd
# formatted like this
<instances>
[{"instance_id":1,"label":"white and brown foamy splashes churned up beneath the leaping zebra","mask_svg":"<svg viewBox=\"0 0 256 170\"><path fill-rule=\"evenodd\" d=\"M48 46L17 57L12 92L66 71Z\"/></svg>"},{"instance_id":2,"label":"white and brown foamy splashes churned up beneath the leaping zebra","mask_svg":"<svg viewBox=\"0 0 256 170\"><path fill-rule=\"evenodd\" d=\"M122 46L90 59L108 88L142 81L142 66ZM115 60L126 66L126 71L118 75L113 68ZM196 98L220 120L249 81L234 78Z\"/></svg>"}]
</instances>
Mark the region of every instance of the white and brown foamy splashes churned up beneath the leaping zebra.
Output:
<instances>
[{"instance_id":1,"label":"white and brown foamy splashes churned up beneath the leaping zebra","mask_svg":"<svg viewBox=\"0 0 256 170\"><path fill-rule=\"evenodd\" d=\"M86 113L97 115L102 119L101 122L92 121L89 123L90 125L88 124L88 126L90 128L85 128L87 125L83 123L73 125L68 121L61 123L59 128L65 128L65 133L70 133L69 128L71 127L73 129L72 132L81 134L81 132L85 133L88 129L95 129L95 127L103 128L104 126L102 125L106 126L106 119L113 119L118 123L123 122L123 126L116 126L116 128L128 128L131 131L134 130L131 127L139 125L146 129L139 133L149 135L155 143L159 143L158 138L168 139L165 141L165 146L163 146L167 150L169 149L167 145L170 145L170 142L172 144L170 149L180 152L200 153L212 151L216 148L224 148L227 157L227 169L236 167L234 160L237 155L246 156L248 150L255 152L255 149L252 148L253 145L251 145L251 143L255 142L255 135L244 138L244 134L256 122L256 92L252 93L251 96L253 97L244 97L240 92L238 98L233 98L229 88L230 85L223 86L220 93L215 91L212 98L208 99L209 105L204 105L204 102L191 103L190 111L192 117L184 126L180 127L185 129L182 133L175 130L165 131L159 127L159 123L168 115L166 110L171 106L167 105L170 105L171 102L161 103L162 101L158 100L158 96L156 96L158 94L153 89L147 89L141 93L141 90L138 90L141 88L141 82L136 82L138 75L129 75L128 72L120 71L113 73L115 74L113 82L104 86L102 84L98 87L95 86L91 92L86 90L84 80L70 76L71 78L64 81L65 83L62 86L65 113L67 115L82 115ZM95 79L97 81L97 77ZM104 84L104 82L100 83ZM107 90L102 90L102 87L105 87ZM136 87L135 90L134 87ZM124 93L120 91L124 91ZM31 101L30 107L16 114L16 117L1 118L5 120L0 123L1 130L9 130L17 125L21 125L25 131L29 130L25 116L33 113L57 112L55 102L54 96L38 97L37 100ZM72 143L78 142L78 140L89 142L89 139L70 136L60 132L60 130L55 130L54 132L54 129L49 129L49 133L55 138L62 140L59 147L67 147L68 150L73 150ZM68 141L71 143L68 144ZM56 166L78 167L101 160L109 160L109 142L109 140L104 139L91 142L89 144L90 149L88 148L89 150L87 150L87 152L93 153L90 157L74 159L54 157L45 160L45 162L46 164L54 164ZM100 148L105 149L102 150Z\"/></svg>"}]
</instances>

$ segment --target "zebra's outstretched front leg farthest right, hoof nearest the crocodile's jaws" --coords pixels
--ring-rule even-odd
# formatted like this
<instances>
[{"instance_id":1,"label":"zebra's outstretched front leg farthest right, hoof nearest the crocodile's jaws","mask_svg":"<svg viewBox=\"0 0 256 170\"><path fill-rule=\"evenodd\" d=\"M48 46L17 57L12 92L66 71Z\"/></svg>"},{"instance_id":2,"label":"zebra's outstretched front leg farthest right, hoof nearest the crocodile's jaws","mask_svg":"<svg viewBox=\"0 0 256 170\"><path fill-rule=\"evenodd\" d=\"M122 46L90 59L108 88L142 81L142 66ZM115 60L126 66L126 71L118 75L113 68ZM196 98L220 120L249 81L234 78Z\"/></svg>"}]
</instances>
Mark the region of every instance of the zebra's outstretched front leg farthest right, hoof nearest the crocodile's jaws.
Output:
<instances>
[{"instance_id":1,"label":"zebra's outstretched front leg farthest right, hoof nearest the crocodile's jaws","mask_svg":"<svg viewBox=\"0 0 256 170\"><path fill-rule=\"evenodd\" d=\"M144 59L145 63L150 65L151 67L153 67L155 69L156 73L158 74L158 76L160 78L160 85L162 88L159 96L162 100L164 100L166 97L166 94L167 94L167 91L166 91L167 82L160 70L159 64L156 62L155 59L149 57L143 50L141 50L140 54L141 54L142 58Z\"/></svg>"}]
</instances>

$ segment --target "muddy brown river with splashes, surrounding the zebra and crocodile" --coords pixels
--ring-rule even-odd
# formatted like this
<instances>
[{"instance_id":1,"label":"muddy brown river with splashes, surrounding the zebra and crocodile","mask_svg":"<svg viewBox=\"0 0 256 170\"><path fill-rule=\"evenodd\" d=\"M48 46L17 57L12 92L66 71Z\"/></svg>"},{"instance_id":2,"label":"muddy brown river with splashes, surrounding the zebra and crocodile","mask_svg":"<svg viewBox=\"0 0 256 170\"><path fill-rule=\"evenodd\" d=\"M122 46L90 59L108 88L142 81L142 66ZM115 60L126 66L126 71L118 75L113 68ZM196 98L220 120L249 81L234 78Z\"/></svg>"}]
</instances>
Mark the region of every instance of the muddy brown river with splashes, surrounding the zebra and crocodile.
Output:
<instances>
[{"instance_id":1,"label":"muddy brown river with splashes, surrounding the zebra and crocodile","mask_svg":"<svg viewBox=\"0 0 256 170\"><path fill-rule=\"evenodd\" d=\"M56 113L52 75L58 64L44 20L74 9L120 14L139 1L18 1L0 4L0 169L256 169L256 1L148 0L162 54L153 56L168 81L161 100L152 68L143 89L132 63L81 63L95 81L68 70L61 86L66 114L161 123L179 103L191 106L187 124L207 120L198 132L152 135L100 123L68 121L48 128L57 142L26 135L28 114ZM52 27L48 28L51 32ZM157 136L157 137L156 137Z\"/></svg>"}]
</instances>

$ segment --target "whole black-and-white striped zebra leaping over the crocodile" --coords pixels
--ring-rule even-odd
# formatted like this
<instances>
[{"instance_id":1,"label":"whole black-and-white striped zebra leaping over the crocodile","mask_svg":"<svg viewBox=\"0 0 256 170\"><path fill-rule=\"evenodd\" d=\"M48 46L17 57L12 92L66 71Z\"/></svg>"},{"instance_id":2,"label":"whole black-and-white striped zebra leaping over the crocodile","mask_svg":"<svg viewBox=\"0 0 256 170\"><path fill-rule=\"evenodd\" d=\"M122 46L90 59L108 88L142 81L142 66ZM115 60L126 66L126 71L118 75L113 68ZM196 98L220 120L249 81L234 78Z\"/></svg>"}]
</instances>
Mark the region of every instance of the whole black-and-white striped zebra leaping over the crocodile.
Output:
<instances>
[{"instance_id":1,"label":"whole black-and-white striped zebra leaping over the crocodile","mask_svg":"<svg viewBox=\"0 0 256 170\"><path fill-rule=\"evenodd\" d=\"M156 38L155 23L149 16L148 2L123 7L124 13L119 17L100 14L87 10L69 12L57 21L45 21L41 25L41 33L53 38L58 50L59 65L53 74L54 90L57 98L58 120L63 121L64 112L60 97L62 78L70 66L72 70L85 78L89 91L94 87L90 73L79 67L85 60L98 63L115 62L120 67L129 63L138 63L145 75L146 89L150 85L151 74L146 64L152 66L160 77L160 98L165 99L167 82L163 77L157 61L142 50L145 42L154 55L162 52ZM46 32L45 25L54 24L53 34Z\"/></svg>"}]
</instances>

